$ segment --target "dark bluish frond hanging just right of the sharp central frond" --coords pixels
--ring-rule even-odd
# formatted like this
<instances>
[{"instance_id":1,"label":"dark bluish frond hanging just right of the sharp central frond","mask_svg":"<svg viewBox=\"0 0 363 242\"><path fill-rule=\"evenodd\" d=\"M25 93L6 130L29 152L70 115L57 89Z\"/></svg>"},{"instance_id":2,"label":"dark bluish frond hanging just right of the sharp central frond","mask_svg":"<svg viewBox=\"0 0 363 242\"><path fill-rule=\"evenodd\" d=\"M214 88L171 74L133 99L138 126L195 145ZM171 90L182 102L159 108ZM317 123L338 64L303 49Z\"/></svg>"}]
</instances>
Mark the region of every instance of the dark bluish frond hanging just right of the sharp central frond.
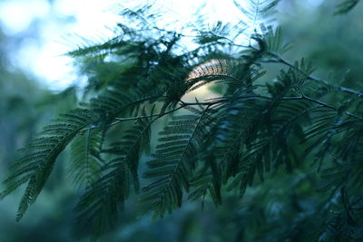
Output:
<instances>
[{"instance_id":1,"label":"dark bluish frond hanging just right of the sharp central frond","mask_svg":"<svg viewBox=\"0 0 363 242\"><path fill-rule=\"evenodd\" d=\"M246 101L231 101L213 107L215 114L210 124L211 131L202 143L202 165L192 178L191 200L204 199L209 194L216 206L221 204L221 184L237 171L235 161L238 160L241 142L250 127L248 117L250 111L256 108L248 100L246 98ZM254 101L259 102L257 99Z\"/></svg>"}]
</instances>

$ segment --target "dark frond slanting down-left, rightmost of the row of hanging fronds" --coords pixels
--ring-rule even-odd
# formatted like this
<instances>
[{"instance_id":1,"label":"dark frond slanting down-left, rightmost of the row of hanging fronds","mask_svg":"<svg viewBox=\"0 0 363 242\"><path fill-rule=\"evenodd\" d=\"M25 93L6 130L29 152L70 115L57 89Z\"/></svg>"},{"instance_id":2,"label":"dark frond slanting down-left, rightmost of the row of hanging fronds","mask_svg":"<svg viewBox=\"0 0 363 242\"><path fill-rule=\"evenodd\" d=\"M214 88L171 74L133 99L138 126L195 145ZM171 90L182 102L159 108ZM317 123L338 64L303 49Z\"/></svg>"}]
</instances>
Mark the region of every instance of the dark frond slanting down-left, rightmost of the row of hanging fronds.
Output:
<instances>
[{"instance_id":1,"label":"dark frond slanting down-left, rightmost of the row of hanging fronds","mask_svg":"<svg viewBox=\"0 0 363 242\"><path fill-rule=\"evenodd\" d=\"M318 108L309 102L280 103L270 117L271 125L265 126L265 132L255 134L255 139L240 150L235 168L237 176L229 189L239 188L240 195L243 195L247 186L252 184L255 174L263 181L264 173L270 171L271 166L277 168L283 164L290 171L289 135L301 120Z\"/></svg>"}]
</instances>

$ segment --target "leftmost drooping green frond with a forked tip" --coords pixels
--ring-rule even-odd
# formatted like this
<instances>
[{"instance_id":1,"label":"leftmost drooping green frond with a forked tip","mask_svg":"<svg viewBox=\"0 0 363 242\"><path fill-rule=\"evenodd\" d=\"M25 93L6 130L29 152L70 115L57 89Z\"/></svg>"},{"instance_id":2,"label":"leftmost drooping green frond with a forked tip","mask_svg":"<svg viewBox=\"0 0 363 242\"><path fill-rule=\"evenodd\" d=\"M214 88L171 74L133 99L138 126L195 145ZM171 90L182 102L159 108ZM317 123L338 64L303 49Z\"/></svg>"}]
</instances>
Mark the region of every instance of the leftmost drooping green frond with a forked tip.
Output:
<instances>
[{"instance_id":1,"label":"leftmost drooping green frond with a forked tip","mask_svg":"<svg viewBox=\"0 0 363 242\"><path fill-rule=\"evenodd\" d=\"M52 172L54 161L78 132L94 125L99 116L88 110L74 110L61 115L54 124L44 127L41 137L25 147L25 155L13 165L14 172L5 179L2 197L27 183L16 219L21 219L34 203Z\"/></svg>"}]
</instances>

